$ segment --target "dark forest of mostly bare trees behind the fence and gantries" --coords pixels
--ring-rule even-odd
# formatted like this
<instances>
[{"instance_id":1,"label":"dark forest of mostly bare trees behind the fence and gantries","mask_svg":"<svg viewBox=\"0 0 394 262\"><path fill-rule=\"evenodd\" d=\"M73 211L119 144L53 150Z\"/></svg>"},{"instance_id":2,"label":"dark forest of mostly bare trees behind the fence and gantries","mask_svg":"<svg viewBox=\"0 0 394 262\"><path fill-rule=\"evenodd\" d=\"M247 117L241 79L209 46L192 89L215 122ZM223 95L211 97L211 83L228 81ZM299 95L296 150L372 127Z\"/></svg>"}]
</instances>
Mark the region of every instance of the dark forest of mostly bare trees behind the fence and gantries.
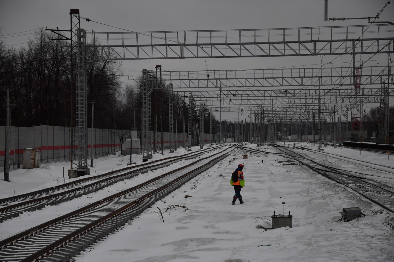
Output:
<instances>
[{"instance_id":1,"label":"dark forest of mostly bare trees behind the fence and gantries","mask_svg":"<svg viewBox=\"0 0 394 262\"><path fill-rule=\"evenodd\" d=\"M52 41L57 38L47 31L37 31L26 47L8 48L0 36L0 86L10 87L11 126L31 127L33 125L71 125L71 59L69 41ZM93 59L88 53L87 59ZM75 60L75 59L73 59ZM74 66L75 68L75 66ZM135 85L124 85L120 81L123 72L117 61L95 61L87 70L87 125L91 127L91 102L94 105L94 127L131 130L141 127L141 81ZM74 74L75 77L75 74ZM169 131L168 90L165 79L163 89L151 95L152 129ZM74 88L75 90L75 88ZM6 125L6 92L2 91L0 125ZM74 98L73 98L74 99ZM199 124L200 113L204 114L204 133L209 133L209 111L192 101L193 126ZM176 93L173 96L174 129L188 131L188 104ZM363 116L363 129L379 133L382 130L382 116L379 107L371 108ZM183 121L185 125L183 126ZM390 129L394 129L394 107L390 107ZM235 124L223 121L222 130L235 134ZM349 123L350 125L350 123ZM184 129L185 128L185 129ZM231 130L231 131L230 131ZM249 131L249 127L244 129ZM219 122L213 120L213 133L219 132ZM224 132L224 131L223 131ZM304 134L303 131L301 131ZM267 136L267 129L266 129ZM224 135L223 135L224 137ZM230 137L230 135L228 136Z\"/></svg>"}]
</instances>

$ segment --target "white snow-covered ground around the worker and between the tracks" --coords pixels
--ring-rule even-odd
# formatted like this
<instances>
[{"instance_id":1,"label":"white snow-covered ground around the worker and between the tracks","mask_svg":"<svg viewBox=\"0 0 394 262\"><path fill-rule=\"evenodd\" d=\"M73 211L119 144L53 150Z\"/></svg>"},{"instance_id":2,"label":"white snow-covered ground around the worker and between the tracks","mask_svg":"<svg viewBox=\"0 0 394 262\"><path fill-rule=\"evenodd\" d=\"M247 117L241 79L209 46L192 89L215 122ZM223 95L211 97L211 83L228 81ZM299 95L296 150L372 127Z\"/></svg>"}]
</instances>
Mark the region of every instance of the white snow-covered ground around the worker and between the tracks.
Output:
<instances>
[{"instance_id":1,"label":"white snow-covered ground around the worker and between the tracks","mask_svg":"<svg viewBox=\"0 0 394 262\"><path fill-rule=\"evenodd\" d=\"M286 143L288 144L288 143ZM310 146L310 144L308 144ZM197 151L199 147L193 148ZM266 146L262 150L275 151ZM341 153L342 148L326 148L330 153ZM346 156L359 159L359 150L346 149ZM353 153L351 153L353 152ZM177 154L187 153L181 149ZM358 153L358 155L357 155ZM276 155L248 154L236 149L216 167L195 177L151 208L143 212L131 224L108 235L97 244L74 257L78 262L139 261L139 262L298 262L298 261L394 261L394 231L390 229L393 214L362 199L356 193L310 171L304 166L282 165ZM155 154L158 157L167 157ZM374 158L392 166L393 161L376 153L362 151L366 159ZM368 157L369 155L369 157ZM133 155L139 163L141 156ZM319 158L322 157L319 155ZM380 159L381 157L381 159ZM96 159L92 175L123 168L129 156L114 155ZM233 160L235 159L235 160ZM231 172L238 164L245 164L245 187L242 189L244 204L231 205L234 190L230 186ZM182 165L182 162L174 164ZM0 197L22 194L40 188L67 183L63 180L69 163L45 165L37 170L10 172L11 182L0 181ZM111 188L97 192L104 194L132 186L137 181L152 178L159 171L140 174ZM139 183L139 182L138 182ZM96 193L96 194L97 194ZM185 196L191 196L186 197ZM54 216L68 209L68 205L83 205L91 195L54 207L23 214L21 227L31 218ZM285 203L284 205L282 203ZM161 220L158 208L163 212ZM349 222L340 221L339 212L346 207L360 207L366 214ZM71 208L71 207L70 207ZM63 211L62 211L63 210ZM271 216L290 214L292 228L264 231L257 226L271 227ZM58 212L57 212L58 211ZM31 222L33 224L33 222ZM0 223L0 238L11 231L7 221ZM22 230L22 229L20 229ZM14 230L15 231L15 230Z\"/></svg>"}]
</instances>

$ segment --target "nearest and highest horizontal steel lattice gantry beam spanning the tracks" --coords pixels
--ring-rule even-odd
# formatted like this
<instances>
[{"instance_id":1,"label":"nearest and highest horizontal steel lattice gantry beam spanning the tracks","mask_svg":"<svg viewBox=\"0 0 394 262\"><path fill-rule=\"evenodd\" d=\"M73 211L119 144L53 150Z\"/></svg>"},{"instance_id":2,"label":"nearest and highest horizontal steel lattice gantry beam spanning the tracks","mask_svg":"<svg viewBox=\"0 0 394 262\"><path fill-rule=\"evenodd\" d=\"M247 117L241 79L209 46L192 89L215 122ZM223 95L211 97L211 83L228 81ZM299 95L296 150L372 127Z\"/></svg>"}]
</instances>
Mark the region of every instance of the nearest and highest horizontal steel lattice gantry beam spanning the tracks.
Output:
<instances>
[{"instance_id":1,"label":"nearest and highest horizontal steel lattice gantry beam spanning the tracks","mask_svg":"<svg viewBox=\"0 0 394 262\"><path fill-rule=\"evenodd\" d=\"M387 53L392 26L361 25L247 30L91 32L103 60L279 57ZM93 41L94 42L94 41Z\"/></svg>"}]
</instances>

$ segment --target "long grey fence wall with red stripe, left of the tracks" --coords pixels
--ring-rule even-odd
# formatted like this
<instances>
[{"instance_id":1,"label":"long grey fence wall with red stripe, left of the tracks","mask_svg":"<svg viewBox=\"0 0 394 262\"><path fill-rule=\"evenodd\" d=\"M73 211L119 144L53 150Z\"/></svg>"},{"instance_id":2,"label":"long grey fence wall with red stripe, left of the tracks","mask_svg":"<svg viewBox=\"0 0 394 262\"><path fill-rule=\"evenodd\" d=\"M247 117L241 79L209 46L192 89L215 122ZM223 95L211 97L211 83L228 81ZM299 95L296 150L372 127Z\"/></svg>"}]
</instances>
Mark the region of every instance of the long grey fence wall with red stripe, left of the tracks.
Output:
<instances>
[{"instance_id":1,"label":"long grey fence wall with red stripe, left of the tracks","mask_svg":"<svg viewBox=\"0 0 394 262\"><path fill-rule=\"evenodd\" d=\"M10 148L9 166L10 170L22 168L22 158L24 148L37 148L40 151L41 164L52 162L70 161L70 127L60 127L52 125L39 125L33 127L10 127ZM152 132L152 138L154 133ZM174 143L177 148L183 146L185 138L186 148L187 134L174 134ZM208 144L209 134L201 134L204 144ZM163 132L163 148L169 149L170 133ZM115 131L111 129L87 129L87 153L91 158L91 144L93 142L93 159L121 151L121 143ZM76 146L74 146L74 149ZM4 172L4 160L6 153L6 127L0 126L0 172ZM73 156L74 160L75 155Z\"/></svg>"}]
</instances>

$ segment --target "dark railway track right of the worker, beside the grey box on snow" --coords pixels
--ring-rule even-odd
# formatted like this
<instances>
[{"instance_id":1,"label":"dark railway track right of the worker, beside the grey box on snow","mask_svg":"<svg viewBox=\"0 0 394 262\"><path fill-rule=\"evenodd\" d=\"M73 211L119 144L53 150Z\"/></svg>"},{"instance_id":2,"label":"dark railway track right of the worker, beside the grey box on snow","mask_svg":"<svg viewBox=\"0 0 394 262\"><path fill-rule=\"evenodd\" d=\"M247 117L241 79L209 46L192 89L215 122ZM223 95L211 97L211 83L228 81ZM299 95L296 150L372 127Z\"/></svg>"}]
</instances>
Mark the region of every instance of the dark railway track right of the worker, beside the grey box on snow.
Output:
<instances>
[{"instance_id":1,"label":"dark railway track right of the worker, beside the grey box on snow","mask_svg":"<svg viewBox=\"0 0 394 262\"><path fill-rule=\"evenodd\" d=\"M336 168L318 163L292 151L290 148L277 145L276 148L283 153L286 153L300 164L309 167L311 170L350 188L380 207L383 207L390 212L394 212L394 188L392 186L376 180L352 175L346 170L337 170Z\"/></svg>"}]
</instances>

